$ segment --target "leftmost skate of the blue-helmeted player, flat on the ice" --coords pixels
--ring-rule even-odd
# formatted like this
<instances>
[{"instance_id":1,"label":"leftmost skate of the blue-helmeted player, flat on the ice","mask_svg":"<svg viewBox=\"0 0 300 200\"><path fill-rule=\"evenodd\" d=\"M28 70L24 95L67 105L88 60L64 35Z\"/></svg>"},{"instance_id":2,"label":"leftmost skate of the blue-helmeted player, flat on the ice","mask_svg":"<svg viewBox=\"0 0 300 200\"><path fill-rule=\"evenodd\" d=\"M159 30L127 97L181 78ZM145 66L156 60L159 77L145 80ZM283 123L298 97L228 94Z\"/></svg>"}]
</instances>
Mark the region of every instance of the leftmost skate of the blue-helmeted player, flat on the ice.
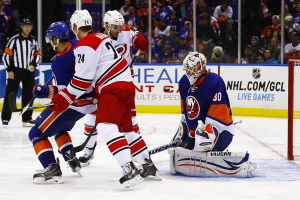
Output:
<instances>
[{"instance_id":1,"label":"leftmost skate of the blue-helmeted player, flat on the ice","mask_svg":"<svg viewBox=\"0 0 300 200\"><path fill-rule=\"evenodd\" d=\"M37 170L33 175L33 182L37 184L63 183L59 163L50 163L46 169Z\"/></svg>"}]
</instances>

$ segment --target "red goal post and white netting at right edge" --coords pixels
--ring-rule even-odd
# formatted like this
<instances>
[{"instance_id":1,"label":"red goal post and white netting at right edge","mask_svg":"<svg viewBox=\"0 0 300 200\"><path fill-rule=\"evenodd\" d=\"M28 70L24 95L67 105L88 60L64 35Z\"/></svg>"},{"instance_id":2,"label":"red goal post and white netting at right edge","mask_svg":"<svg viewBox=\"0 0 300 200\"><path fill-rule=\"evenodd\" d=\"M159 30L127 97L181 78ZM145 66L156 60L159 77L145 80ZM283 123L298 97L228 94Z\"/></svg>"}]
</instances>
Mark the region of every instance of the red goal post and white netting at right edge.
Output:
<instances>
[{"instance_id":1,"label":"red goal post and white netting at right edge","mask_svg":"<svg viewBox=\"0 0 300 200\"><path fill-rule=\"evenodd\" d=\"M300 58L289 60L288 159L300 157Z\"/></svg>"}]
</instances>

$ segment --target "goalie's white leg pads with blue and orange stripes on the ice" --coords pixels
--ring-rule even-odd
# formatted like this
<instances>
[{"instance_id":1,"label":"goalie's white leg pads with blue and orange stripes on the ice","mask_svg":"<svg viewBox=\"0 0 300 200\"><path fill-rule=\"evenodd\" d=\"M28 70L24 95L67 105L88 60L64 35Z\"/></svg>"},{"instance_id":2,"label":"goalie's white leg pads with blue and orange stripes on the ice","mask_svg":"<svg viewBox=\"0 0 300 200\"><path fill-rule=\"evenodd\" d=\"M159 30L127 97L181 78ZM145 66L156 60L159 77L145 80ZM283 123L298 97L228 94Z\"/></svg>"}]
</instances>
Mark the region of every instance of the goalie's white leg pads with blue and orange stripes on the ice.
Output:
<instances>
[{"instance_id":1,"label":"goalie's white leg pads with blue and orange stripes on the ice","mask_svg":"<svg viewBox=\"0 0 300 200\"><path fill-rule=\"evenodd\" d=\"M170 148L170 170L188 176L253 177L260 166L250 162L248 152L194 152L182 147Z\"/></svg>"}]
</instances>

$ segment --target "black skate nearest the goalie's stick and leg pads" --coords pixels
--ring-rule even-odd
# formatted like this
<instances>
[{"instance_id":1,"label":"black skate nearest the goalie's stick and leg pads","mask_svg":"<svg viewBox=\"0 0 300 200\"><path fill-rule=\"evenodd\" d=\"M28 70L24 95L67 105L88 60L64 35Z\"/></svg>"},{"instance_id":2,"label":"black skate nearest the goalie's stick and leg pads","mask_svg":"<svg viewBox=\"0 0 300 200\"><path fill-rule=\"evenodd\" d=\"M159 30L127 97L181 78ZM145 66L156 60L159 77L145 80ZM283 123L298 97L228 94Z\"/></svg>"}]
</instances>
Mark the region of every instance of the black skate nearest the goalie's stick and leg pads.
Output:
<instances>
[{"instance_id":1,"label":"black skate nearest the goalie's stick and leg pads","mask_svg":"<svg viewBox=\"0 0 300 200\"><path fill-rule=\"evenodd\" d=\"M158 170L155 167L153 161L151 158L145 158L146 164L143 164L143 169L140 170L140 175L144 179L147 180L156 180L156 181L161 181L161 177L158 174Z\"/></svg>"}]
</instances>

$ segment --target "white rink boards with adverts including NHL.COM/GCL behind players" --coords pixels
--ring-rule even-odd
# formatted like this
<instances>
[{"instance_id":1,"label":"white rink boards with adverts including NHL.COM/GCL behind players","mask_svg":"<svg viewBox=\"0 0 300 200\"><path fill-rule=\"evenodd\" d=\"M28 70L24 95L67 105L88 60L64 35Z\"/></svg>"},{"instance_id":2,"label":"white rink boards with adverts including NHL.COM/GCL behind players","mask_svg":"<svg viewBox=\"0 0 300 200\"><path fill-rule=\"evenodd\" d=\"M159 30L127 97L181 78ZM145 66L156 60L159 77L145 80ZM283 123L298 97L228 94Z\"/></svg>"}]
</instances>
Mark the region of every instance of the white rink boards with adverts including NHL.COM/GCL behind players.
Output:
<instances>
[{"instance_id":1,"label":"white rink boards with adverts including NHL.COM/GCL behind players","mask_svg":"<svg viewBox=\"0 0 300 200\"><path fill-rule=\"evenodd\" d=\"M287 65L207 64L207 69L219 73L226 85L233 115L287 117ZM139 113L180 113L178 82L184 75L180 64L136 64L136 108ZM52 76L50 64L40 64L35 81L44 84ZM5 95L7 73L0 65L0 107ZM20 107L21 88L17 103ZM35 104L48 103L38 99Z\"/></svg>"}]
</instances>

